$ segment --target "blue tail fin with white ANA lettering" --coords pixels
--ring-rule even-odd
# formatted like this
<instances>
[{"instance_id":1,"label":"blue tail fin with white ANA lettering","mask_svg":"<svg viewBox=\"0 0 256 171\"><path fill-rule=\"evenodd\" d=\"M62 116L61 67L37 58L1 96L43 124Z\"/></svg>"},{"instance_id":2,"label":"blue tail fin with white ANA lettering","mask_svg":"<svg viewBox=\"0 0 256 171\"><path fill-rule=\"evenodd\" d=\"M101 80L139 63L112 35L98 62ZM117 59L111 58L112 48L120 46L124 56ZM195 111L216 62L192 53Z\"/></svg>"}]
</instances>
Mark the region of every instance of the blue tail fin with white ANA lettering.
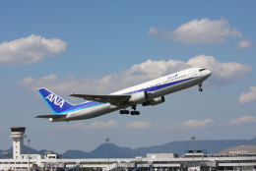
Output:
<instances>
[{"instance_id":1,"label":"blue tail fin with white ANA lettering","mask_svg":"<svg viewBox=\"0 0 256 171\"><path fill-rule=\"evenodd\" d=\"M62 114L65 110L74 106L44 87L39 88L38 92L54 114Z\"/></svg>"}]
</instances>

